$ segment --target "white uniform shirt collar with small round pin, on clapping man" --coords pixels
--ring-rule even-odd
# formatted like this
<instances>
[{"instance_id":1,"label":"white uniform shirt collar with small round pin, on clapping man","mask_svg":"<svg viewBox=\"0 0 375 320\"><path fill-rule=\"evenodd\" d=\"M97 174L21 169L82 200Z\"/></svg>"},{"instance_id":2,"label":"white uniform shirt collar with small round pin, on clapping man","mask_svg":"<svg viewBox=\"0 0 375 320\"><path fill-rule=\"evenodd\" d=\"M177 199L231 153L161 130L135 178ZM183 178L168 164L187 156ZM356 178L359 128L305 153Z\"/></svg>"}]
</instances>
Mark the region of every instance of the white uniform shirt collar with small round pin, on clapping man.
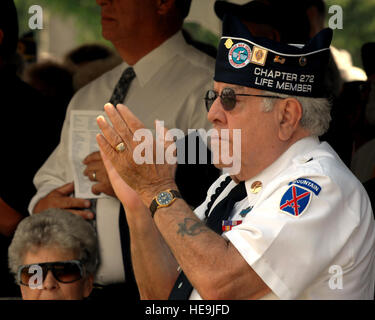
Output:
<instances>
[{"instance_id":1,"label":"white uniform shirt collar with small round pin, on clapping man","mask_svg":"<svg viewBox=\"0 0 375 320\"><path fill-rule=\"evenodd\" d=\"M293 158L301 155L301 161L309 161L310 159L305 159L303 155L313 147L319 145L319 143L318 137L315 136L309 136L295 142L275 162L245 182L247 194L254 195L260 192L277 174L290 165ZM258 186L258 190L256 186Z\"/></svg>"}]
</instances>

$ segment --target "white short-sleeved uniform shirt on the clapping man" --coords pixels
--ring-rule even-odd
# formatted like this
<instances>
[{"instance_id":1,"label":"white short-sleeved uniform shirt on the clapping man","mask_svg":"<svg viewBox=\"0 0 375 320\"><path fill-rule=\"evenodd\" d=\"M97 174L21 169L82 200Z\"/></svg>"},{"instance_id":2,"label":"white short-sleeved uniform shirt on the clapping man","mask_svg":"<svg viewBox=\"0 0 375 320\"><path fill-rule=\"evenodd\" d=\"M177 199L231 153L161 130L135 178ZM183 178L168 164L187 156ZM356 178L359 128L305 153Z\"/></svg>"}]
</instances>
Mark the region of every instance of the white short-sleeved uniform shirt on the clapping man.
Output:
<instances>
[{"instance_id":1,"label":"white short-sleeved uniform shirt on the clapping man","mask_svg":"<svg viewBox=\"0 0 375 320\"><path fill-rule=\"evenodd\" d=\"M200 219L225 178L211 186L207 200L195 210ZM252 192L255 181L262 183L258 193ZM213 207L234 186L232 181ZM263 299L374 298L375 224L370 201L326 142L313 137L296 142L245 186L248 197L236 204L231 217L242 224L223 237L272 290ZM309 199L297 200L299 216L280 209L288 207L288 199L293 202L288 193L293 186L296 198L302 192ZM240 212L249 207L242 217ZM292 205L289 209L294 212ZM194 289L190 299L201 297Z\"/></svg>"}]
</instances>

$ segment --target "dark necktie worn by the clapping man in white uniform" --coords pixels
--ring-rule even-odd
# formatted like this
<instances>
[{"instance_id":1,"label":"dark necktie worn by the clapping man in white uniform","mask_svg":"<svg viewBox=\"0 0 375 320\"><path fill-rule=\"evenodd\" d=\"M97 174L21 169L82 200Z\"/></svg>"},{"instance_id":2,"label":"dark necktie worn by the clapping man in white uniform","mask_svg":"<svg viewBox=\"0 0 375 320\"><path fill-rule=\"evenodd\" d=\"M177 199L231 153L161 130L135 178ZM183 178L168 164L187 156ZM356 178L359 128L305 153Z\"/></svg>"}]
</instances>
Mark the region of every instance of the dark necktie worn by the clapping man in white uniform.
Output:
<instances>
[{"instance_id":1,"label":"dark necktie worn by the clapping man in white uniform","mask_svg":"<svg viewBox=\"0 0 375 320\"><path fill-rule=\"evenodd\" d=\"M225 189L225 187L229 184L231 179L226 179L222 182L220 187L215 191L215 194L212 196L210 204L208 205L208 210L213 205L213 202L217 199L220 193ZM233 210L234 205L236 202L241 201L242 199L247 197L245 183L240 182L237 184L229 194L221 200L215 208L212 210L211 214L209 215L206 226L209 227L211 230L215 231L217 234L222 233L222 221L227 220ZM191 285L189 279L186 277L185 273L181 271L180 275L178 276L171 294L169 295L169 300L187 300L190 297L191 292L193 291L193 286Z\"/></svg>"}]
</instances>

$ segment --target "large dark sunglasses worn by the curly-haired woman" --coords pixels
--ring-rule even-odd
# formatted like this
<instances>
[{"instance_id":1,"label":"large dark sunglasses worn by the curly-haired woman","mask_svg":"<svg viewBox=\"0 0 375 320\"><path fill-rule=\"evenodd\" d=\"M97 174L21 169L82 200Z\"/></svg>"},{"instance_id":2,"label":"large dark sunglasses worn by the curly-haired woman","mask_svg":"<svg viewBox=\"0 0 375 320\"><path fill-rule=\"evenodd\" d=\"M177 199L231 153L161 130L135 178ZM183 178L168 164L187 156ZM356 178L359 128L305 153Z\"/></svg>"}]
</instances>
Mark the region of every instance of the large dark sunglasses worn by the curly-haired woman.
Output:
<instances>
[{"instance_id":1,"label":"large dark sunglasses worn by the curly-haired woman","mask_svg":"<svg viewBox=\"0 0 375 320\"><path fill-rule=\"evenodd\" d=\"M43 281L46 279L49 270L51 270L55 279L62 283L78 281L85 275L83 264L79 260L34 263L18 268L17 280L19 284L29 286L30 278L37 272L35 266L39 266L42 269ZM31 267L33 268L30 270Z\"/></svg>"}]
</instances>

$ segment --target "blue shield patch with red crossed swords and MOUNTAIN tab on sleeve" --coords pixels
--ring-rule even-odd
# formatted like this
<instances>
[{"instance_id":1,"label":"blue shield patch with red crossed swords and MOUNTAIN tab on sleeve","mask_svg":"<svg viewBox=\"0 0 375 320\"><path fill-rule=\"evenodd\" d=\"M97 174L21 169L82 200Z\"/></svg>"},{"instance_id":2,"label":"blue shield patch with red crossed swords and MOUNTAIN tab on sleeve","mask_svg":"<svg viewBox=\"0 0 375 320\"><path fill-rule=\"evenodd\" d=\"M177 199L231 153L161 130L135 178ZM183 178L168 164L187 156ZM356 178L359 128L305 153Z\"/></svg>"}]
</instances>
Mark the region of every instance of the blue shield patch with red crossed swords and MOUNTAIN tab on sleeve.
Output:
<instances>
[{"instance_id":1,"label":"blue shield patch with red crossed swords and MOUNTAIN tab on sleeve","mask_svg":"<svg viewBox=\"0 0 375 320\"><path fill-rule=\"evenodd\" d=\"M322 188L312 180L299 178L288 184L290 187L280 200L280 210L299 217L310 205L313 193L317 196Z\"/></svg>"}]
</instances>

